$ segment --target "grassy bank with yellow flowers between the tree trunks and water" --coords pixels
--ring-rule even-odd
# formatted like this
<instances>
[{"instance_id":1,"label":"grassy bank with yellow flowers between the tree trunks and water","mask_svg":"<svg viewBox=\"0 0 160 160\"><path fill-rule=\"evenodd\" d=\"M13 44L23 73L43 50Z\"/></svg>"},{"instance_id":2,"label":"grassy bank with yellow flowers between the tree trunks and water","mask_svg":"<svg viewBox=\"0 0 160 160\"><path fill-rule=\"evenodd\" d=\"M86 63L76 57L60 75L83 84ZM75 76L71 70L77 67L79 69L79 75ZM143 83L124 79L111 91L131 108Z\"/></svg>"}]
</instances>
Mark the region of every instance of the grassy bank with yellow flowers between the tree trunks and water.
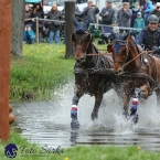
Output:
<instances>
[{"instance_id":1,"label":"grassy bank with yellow flowers between the tree trunks and water","mask_svg":"<svg viewBox=\"0 0 160 160\"><path fill-rule=\"evenodd\" d=\"M64 58L65 45L23 45L23 57L11 58L10 100L45 100L73 77L74 58Z\"/></svg>"}]
</instances>

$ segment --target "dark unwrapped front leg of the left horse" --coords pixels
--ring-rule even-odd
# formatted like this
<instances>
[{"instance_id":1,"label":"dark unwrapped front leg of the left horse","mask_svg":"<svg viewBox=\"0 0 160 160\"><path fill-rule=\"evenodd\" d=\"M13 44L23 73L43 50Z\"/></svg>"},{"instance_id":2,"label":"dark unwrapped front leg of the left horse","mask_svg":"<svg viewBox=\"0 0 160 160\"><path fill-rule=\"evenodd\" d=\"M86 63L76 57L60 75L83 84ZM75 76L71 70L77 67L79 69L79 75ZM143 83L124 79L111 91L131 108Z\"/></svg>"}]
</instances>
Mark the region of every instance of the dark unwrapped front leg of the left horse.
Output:
<instances>
[{"instance_id":1,"label":"dark unwrapped front leg of the left horse","mask_svg":"<svg viewBox=\"0 0 160 160\"><path fill-rule=\"evenodd\" d=\"M92 113L92 119L95 120L98 118L98 110L102 104L103 93L95 94L95 106Z\"/></svg>"}]
</instances>

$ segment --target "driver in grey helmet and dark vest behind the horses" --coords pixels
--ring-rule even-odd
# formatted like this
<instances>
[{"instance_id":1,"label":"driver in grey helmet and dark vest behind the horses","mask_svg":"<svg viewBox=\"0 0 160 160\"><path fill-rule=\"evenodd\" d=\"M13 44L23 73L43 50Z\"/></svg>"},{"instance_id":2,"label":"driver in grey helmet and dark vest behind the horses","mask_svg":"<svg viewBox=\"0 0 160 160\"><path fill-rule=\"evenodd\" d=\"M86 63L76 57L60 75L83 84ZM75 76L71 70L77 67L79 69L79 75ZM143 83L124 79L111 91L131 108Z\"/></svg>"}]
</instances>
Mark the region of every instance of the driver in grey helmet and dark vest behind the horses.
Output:
<instances>
[{"instance_id":1,"label":"driver in grey helmet and dark vest behind the horses","mask_svg":"<svg viewBox=\"0 0 160 160\"><path fill-rule=\"evenodd\" d=\"M145 50L153 50L154 55L160 57L160 29L158 28L159 18L151 14L147 19L148 26L145 28L136 38L136 43L143 45Z\"/></svg>"}]
</instances>

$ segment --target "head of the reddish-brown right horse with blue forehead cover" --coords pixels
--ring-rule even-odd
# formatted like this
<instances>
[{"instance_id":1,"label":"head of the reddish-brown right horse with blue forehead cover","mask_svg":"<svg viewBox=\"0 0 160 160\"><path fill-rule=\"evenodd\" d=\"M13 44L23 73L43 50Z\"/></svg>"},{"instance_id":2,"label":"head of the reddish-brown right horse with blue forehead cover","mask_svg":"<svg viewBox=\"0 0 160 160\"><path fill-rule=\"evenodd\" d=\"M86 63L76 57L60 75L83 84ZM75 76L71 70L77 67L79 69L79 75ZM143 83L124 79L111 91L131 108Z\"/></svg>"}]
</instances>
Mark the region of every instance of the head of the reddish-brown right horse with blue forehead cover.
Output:
<instances>
[{"instance_id":1,"label":"head of the reddish-brown right horse with blue forehead cover","mask_svg":"<svg viewBox=\"0 0 160 160\"><path fill-rule=\"evenodd\" d=\"M126 41L128 34L129 32L125 35L115 35L115 40L113 41L113 43L108 44L107 46L107 51L113 53L114 72L116 74L122 71L122 66L126 63L128 56L129 50Z\"/></svg>"}]
</instances>

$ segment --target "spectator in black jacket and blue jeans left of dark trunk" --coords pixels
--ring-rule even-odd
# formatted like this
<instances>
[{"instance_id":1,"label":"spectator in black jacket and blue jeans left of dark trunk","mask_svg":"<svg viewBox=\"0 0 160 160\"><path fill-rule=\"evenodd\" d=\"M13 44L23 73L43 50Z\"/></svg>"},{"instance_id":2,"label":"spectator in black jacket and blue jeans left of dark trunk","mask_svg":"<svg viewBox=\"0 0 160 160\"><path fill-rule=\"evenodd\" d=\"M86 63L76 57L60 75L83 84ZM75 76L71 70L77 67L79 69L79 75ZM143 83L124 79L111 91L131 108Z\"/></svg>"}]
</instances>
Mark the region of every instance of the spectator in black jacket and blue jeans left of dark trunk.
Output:
<instances>
[{"instance_id":1,"label":"spectator in black jacket and blue jeans left of dark trunk","mask_svg":"<svg viewBox=\"0 0 160 160\"><path fill-rule=\"evenodd\" d=\"M47 13L47 18L50 20L57 20L49 22L49 44L53 43L53 39L55 40L55 44L60 43L60 30L61 23L58 22L62 19L61 12L57 10L57 6L53 4L51 11Z\"/></svg>"}]
</instances>

